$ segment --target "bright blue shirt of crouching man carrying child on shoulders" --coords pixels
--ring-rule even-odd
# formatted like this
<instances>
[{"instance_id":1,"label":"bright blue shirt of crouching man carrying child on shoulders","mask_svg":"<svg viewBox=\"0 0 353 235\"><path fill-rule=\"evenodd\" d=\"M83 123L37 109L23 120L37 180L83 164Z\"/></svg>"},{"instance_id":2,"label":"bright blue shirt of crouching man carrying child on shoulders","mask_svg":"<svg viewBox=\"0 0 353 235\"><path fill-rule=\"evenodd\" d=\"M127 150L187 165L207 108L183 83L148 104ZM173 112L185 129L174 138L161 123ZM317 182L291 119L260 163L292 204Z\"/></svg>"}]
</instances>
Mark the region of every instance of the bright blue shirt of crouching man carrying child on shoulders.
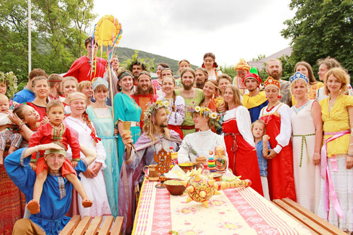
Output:
<instances>
[{"instance_id":1,"label":"bright blue shirt of crouching man carrying child on shoulders","mask_svg":"<svg viewBox=\"0 0 353 235\"><path fill-rule=\"evenodd\" d=\"M26 195L26 202L33 199L33 187L36 172L29 166L31 157L24 158L27 148L18 149L5 158L5 168L10 179ZM87 169L86 161L81 159L75 170L77 175ZM78 176L80 179L80 177ZM61 173L48 176L43 184L40 197L40 212L29 218L41 227L46 234L58 234L69 222L70 217L65 216L71 204L73 185Z\"/></svg>"}]
</instances>

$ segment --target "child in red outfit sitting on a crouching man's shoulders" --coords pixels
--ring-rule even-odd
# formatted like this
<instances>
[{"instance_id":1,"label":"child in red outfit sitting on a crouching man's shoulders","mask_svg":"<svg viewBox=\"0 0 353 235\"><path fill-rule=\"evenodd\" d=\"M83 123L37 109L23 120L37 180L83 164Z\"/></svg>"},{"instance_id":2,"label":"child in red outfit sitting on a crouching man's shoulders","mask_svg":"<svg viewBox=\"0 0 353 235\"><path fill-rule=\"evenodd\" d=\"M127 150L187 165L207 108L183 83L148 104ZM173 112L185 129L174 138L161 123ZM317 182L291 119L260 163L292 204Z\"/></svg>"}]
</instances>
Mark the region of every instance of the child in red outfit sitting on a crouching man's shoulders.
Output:
<instances>
[{"instance_id":1,"label":"child in red outfit sitting on a crouching man's shoulders","mask_svg":"<svg viewBox=\"0 0 353 235\"><path fill-rule=\"evenodd\" d=\"M69 144L72 149L73 161L70 163L70 161L65 158L61 173L63 177L73 184L76 191L82 197L82 205L84 207L90 207L92 206L92 201L88 199L80 180L77 178L76 170L73 168L76 167L77 162L80 161L80 144L71 133L70 128L67 128L66 125L63 124L64 105L59 100L52 100L47 104L46 111L49 123L40 126L37 132L31 136L28 147L35 147L39 144L51 143L52 141L60 141L67 149ZM43 154L43 151L39 152L39 159L37 161L37 154L33 153L30 162L30 166L36 171L37 175L34 183L33 199L27 204L27 208L31 214L40 212L40 196L48 173Z\"/></svg>"}]
</instances>

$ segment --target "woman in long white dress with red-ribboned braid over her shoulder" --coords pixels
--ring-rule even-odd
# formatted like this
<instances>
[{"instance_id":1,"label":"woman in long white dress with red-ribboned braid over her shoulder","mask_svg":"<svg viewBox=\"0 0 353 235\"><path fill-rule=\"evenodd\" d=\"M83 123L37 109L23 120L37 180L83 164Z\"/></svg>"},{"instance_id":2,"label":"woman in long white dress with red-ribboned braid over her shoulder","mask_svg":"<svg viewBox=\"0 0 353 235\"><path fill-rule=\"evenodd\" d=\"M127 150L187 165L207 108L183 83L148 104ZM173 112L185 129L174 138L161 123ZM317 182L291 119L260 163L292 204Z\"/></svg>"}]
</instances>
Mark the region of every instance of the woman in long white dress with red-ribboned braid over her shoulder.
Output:
<instances>
[{"instance_id":1,"label":"woman in long white dress with red-ribboned braid over her shoulder","mask_svg":"<svg viewBox=\"0 0 353 235\"><path fill-rule=\"evenodd\" d=\"M86 112L87 97L79 92L72 93L68 96L69 104L72 113L65 119L74 135L80 143L94 149L97 153L96 160L87 168L84 173L80 173L81 184L85 189L87 196L93 201L92 207L84 208L81 206L82 198L78 197L78 206L80 215L111 215L108 198L105 190L105 183L103 178L103 169L106 168L104 162L106 158L105 149L96 135L93 123L91 123ZM68 150L68 157L70 158L71 149ZM85 155L81 152L81 158Z\"/></svg>"}]
</instances>

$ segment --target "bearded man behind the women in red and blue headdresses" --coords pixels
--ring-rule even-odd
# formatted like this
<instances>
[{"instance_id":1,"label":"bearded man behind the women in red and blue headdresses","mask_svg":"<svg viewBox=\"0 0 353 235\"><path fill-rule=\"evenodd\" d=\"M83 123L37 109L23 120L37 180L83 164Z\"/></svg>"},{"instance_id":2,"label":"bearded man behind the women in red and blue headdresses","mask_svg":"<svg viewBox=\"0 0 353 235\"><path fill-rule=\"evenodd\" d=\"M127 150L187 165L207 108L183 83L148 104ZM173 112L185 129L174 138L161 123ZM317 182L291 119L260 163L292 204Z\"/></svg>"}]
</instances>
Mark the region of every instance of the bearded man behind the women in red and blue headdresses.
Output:
<instances>
[{"instance_id":1,"label":"bearded man behind the women in red and blue headdresses","mask_svg":"<svg viewBox=\"0 0 353 235\"><path fill-rule=\"evenodd\" d=\"M279 101L291 107L290 82L280 79L282 76L282 62L278 59L269 60L266 65L266 72L268 76L279 81L281 92Z\"/></svg>"}]
</instances>

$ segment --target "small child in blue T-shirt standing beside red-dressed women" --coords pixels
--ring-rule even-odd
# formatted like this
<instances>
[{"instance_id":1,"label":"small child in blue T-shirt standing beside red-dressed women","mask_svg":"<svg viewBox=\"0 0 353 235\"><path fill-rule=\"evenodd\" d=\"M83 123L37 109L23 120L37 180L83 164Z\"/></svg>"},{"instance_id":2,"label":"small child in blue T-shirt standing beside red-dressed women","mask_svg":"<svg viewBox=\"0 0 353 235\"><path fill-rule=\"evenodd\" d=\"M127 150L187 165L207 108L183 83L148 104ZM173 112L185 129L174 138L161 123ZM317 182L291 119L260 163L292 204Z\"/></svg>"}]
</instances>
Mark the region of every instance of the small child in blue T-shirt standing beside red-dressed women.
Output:
<instances>
[{"instance_id":1,"label":"small child in blue T-shirt standing beside red-dressed women","mask_svg":"<svg viewBox=\"0 0 353 235\"><path fill-rule=\"evenodd\" d=\"M260 176L264 198L270 200L267 181L267 155L271 149L268 140L270 137L265 135L265 123L262 120L257 120L251 125L251 132L254 136L256 145L257 161L259 162Z\"/></svg>"}]
</instances>

